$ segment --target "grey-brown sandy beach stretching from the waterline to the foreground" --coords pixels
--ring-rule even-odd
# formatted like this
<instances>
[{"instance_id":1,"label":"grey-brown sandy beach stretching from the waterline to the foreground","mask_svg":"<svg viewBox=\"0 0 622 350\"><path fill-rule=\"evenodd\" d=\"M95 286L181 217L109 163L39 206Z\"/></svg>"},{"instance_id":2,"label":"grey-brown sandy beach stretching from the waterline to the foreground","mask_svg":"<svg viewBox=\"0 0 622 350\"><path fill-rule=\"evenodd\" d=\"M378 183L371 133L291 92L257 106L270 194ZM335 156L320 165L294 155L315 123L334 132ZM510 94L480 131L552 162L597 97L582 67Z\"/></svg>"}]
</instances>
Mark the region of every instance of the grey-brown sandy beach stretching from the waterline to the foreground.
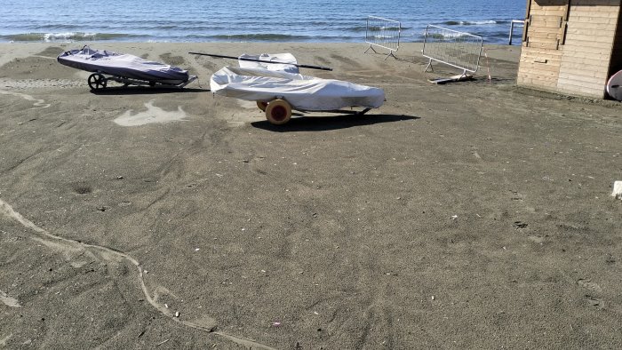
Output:
<instances>
[{"instance_id":1,"label":"grey-brown sandy beach stretching from the waterline to the foreground","mask_svg":"<svg viewBox=\"0 0 622 350\"><path fill-rule=\"evenodd\" d=\"M99 43L199 81L93 92L83 45L0 44L0 347L622 347L622 104L517 87L520 46L437 85L420 44ZM187 52L387 101L275 126Z\"/></svg>"}]
</instances>

